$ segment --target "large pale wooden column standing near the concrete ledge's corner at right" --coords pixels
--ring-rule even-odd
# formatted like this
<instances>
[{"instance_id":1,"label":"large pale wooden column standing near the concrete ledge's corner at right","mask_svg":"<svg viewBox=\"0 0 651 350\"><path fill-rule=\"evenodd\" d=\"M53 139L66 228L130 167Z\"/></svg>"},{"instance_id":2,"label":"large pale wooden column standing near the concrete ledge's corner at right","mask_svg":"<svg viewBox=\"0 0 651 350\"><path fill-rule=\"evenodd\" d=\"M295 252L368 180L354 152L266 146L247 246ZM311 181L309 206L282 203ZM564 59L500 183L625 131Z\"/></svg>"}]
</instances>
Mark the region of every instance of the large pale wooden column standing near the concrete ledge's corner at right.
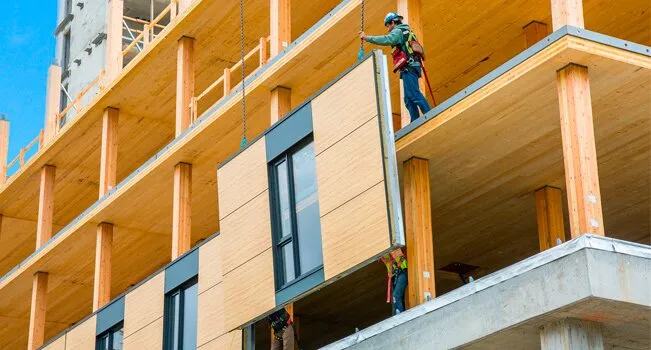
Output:
<instances>
[{"instance_id":1,"label":"large pale wooden column standing near the concrete ledge's corner at right","mask_svg":"<svg viewBox=\"0 0 651 350\"><path fill-rule=\"evenodd\" d=\"M570 64L556 75L572 238L604 235L588 69Z\"/></svg>"}]
</instances>

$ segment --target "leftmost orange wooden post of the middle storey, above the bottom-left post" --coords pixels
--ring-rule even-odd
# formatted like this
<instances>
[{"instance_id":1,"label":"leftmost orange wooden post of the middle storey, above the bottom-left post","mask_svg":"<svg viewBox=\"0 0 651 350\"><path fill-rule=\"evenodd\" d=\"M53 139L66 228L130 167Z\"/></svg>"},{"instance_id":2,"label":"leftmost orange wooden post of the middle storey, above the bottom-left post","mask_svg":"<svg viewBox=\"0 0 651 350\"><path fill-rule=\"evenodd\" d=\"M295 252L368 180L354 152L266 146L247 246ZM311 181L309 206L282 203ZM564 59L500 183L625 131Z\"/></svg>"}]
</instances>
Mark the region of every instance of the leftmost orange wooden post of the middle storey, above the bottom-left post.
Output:
<instances>
[{"instance_id":1,"label":"leftmost orange wooden post of the middle storey, above the bottom-left post","mask_svg":"<svg viewBox=\"0 0 651 350\"><path fill-rule=\"evenodd\" d=\"M38 198L38 222L36 223L36 249L52 237L54 214L54 178L56 168L45 165L41 169L41 189Z\"/></svg>"}]
</instances>

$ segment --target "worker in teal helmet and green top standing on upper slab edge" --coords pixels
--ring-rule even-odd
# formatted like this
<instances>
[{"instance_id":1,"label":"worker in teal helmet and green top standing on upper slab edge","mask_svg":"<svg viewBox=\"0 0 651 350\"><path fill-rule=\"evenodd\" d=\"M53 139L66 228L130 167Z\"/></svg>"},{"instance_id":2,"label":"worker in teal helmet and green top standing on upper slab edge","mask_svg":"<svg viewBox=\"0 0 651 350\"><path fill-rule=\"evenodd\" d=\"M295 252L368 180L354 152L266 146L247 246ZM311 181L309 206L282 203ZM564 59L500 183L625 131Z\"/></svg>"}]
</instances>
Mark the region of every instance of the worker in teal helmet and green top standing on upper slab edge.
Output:
<instances>
[{"instance_id":1,"label":"worker in teal helmet and green top standing on upper slab edge","mask_svg":"<svg viewBox=\"0 0 651 350\"><path fill-rule=\"evenodd\" d=\"M388 35L371 36L366 35L364 32L359 32L359 37L371 44L391 46L394 49L394 66L395 50L399 50L398 52L401 51L406 54L405 64L396 67L396 69L400 71L400 79L402 79L405 93L405 106L407 107L409 116L413 122L420 117L418 109L420 109L422 114L425 114L429 112L431 108L418 86L418 79L421 77L422 70L421 62L419 59L413 57L413 55L410 54L411 50L408 50L406 47L406 43L409 40L410 35L413 36L413 32L409 28L409 25L402 23L402 20L402 16L395 12L389 12L384 18L384 26L389 30Z\"/></svg>"}]
</instances>

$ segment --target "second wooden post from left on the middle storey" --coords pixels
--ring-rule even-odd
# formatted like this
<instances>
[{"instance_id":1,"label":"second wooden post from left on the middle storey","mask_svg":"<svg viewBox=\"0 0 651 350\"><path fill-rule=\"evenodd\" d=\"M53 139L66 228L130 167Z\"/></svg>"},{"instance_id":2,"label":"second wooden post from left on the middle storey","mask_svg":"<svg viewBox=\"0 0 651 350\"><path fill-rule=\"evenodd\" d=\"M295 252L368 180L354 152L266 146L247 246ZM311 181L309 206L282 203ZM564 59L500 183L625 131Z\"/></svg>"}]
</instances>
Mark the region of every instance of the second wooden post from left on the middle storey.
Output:
<instances>
[{"instance_id":1,"label":"second wooden post from left on the middle storey","mask_svg":"<svg viewBox=\"0 0 651 350\"><path fill-rule=\"evenodd\" d=\"M102 118L102 149L99 173L99 196L115 187L118 159L118 118L120 110L107 108Z\"/></svg>"}]
</instances>

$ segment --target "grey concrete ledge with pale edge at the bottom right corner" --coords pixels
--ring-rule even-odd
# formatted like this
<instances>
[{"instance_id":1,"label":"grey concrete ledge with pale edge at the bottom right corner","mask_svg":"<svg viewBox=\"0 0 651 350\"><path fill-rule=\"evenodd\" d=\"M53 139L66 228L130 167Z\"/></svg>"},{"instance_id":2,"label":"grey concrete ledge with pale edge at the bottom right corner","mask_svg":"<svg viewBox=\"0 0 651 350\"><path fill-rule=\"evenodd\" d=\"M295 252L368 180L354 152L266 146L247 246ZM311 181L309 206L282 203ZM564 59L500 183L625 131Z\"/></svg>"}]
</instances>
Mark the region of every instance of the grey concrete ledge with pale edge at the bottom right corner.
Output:
<instances>
[{"instance_id":1,"label":"grey concrete ledge with pale edge at the bottom right corner","mask_svg":"<svg viewBox=\"0 0 651 350\"><path fill-rule=\"evenodd\" d=\"M602 323L610 344L648 348L650 315L651 247L586 235L325 349L539 348L540 325L569 316ZM608 339L621 325L628 336Z\"/></svg>"}]
</instances>

